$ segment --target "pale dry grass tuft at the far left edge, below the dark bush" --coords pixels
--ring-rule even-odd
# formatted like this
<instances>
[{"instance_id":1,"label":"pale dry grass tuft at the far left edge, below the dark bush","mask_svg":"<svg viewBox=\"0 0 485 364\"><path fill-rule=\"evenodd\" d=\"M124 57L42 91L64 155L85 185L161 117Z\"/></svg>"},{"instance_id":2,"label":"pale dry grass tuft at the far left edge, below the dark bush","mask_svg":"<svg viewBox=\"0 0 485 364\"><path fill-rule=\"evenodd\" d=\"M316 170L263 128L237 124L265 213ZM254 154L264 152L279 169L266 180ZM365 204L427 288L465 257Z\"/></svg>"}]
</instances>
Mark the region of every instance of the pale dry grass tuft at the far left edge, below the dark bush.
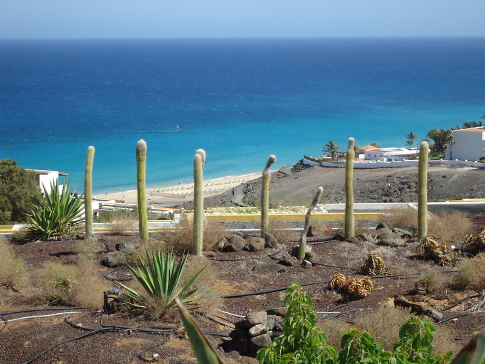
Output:
<instances>
[{"instance_id":1,"label":"pale dry grass tuft at the far left edge, below the dark bush","mask_svg":"<svg viewBox=\"0 0 485 364\"><path fill-rule=\"evenodd\" d=\"M17 289L28 282L27 266L17 258L8 240L0 239L0 284L11 284Z\"/></svg>"}]
</instances>

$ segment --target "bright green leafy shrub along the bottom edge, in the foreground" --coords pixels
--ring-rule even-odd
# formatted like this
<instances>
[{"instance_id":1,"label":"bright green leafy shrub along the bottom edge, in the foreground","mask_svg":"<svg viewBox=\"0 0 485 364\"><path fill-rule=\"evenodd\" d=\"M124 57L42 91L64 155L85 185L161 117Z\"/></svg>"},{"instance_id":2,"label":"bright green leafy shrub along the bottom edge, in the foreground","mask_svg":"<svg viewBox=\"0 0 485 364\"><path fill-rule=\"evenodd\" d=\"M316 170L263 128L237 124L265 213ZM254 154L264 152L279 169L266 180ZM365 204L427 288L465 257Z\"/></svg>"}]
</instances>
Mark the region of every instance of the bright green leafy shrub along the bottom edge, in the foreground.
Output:
<instances>
[{"instance_id":1,"label":"bright green leafy shrub along the bottom edge, in the foreground","mask_svg":"<svg viewBox=\"0 0 485 364\"><path fill-rule=\"evenodd\" d=\"M258 350L260 364L444 364L452 352L433 354L434 325L413 316L399 330L399 341L392 350L375 343L372 335L361 329L350 329L341 340L341 350L327 344L322 330L315 327L316 312L311 299L293 283L284 300L288 309L283 320L284 334L267 347Z\"/></svg>"}]
</instances>

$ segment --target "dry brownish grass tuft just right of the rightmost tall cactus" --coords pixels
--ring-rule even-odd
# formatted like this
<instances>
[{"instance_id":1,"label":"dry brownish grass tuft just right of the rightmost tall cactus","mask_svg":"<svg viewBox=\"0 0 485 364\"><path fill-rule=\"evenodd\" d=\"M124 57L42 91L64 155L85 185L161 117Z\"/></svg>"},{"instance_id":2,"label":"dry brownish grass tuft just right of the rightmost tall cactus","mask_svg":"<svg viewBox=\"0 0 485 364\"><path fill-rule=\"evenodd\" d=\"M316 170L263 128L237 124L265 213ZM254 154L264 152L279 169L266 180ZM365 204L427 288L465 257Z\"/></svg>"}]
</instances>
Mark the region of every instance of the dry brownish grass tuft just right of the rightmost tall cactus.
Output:
<instances>
[{"instance_id":1,"label":"dry brownish grass tuft just right of the rightmost tall cactus","mask_svg":"<svg viewBox=\"0 0 485 364\"><path fill-rule=\"evenodd\" d=\"M472 230L472 223L461 212L433 215L428 219L428 233L446 242L462 243Z\"/></svg>"}]
</instances>

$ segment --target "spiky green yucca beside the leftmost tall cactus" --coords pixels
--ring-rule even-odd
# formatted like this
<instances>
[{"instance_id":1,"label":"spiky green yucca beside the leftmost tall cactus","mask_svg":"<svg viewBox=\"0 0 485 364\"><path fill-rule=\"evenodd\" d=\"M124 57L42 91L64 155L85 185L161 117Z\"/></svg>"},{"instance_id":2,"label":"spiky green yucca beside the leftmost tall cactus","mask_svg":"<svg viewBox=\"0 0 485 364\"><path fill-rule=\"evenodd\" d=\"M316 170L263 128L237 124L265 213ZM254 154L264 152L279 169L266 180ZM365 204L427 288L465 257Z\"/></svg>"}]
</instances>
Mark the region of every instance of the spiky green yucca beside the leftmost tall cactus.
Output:
<instances>
[{"instance_id":1,"label":"spiky green yucca beside the leftmost tall cactus","mask_svg":"<svg viewBox=\"0 0 485 364\"><path fill-rule=\"evenodd\" d=\"M71 193L71 183L51 183L50 193L32 197L26 214L35 237L46 240L56 235L71 234L82 222L82 199ZM44 188L45 189L45 188Z\"/></svg>"}]
</instances>

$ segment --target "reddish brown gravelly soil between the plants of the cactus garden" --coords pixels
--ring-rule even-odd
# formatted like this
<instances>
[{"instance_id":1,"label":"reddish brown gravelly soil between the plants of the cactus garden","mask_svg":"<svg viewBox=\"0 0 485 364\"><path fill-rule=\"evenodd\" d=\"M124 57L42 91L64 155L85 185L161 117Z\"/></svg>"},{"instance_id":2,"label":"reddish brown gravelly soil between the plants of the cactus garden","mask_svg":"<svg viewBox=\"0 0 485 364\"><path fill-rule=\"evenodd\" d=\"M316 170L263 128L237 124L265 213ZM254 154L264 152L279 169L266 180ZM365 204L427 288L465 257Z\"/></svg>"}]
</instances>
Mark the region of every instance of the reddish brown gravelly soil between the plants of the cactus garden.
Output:
<instances>
[{"instance_id":1,"label":"reddish brown gravelly soil between the plants of the cactus garden","mask_svg":"<svg viewBox=\"0 0 485 364\"><path fill-rule=\"evenodd\" d=\"M475 216L477 217L477 216ZM482 216L473 219L476 225L484 223ZM104 238L105 244L99 239ZM375 312L379 307L392 303L395 295L404 295L412 301L425 301L427 305L436 310L441 310L461 298L471 294L481 292L458 291L453 288L453 280L456 273L441 273L445 275L449 282L443 288L440 288L428 296L419 296L414 292L415 278L410 276L410 272L422 272L430 270L442 270L443 267L436 265L434 262L425 261L423 257L416 252L416 244L410 244L404 248L382 248L372 243L351 244L346 242L328 242L321 243L329 236L319 236L309 238L309 243L313 245L313 251L318 255L318 262L326 265L316 265L311 269L304 269L301 266L289 267L286 273L280 273L268 277L255 277L252 274L252 267L256 262L275 262L268 254L273 251L264 252L237 252L222 253L217 252L212 259L212 270L216 274L213 281L215 290L219 289L223 294L229 293L246 293L266 289L286 287L291 282L307 283L315 281L328 281L337 273L345 275L355 274L351 269L357 269L364 261L368 251L377 250L388 264L390 273L406 272L407 276L391 277L375 280L376 289L366 298L355 301L343 299L339 294L330 290L327 283L311 284L305 287L307 294L313 299L316 311L326 311L335 307L346 304L337 311L348 311L362 308L363 311L353 311L341 315L339 318L353 323L360 315L368 312ZM136 242L137 238L120 237L120 236L97 236L99 248L107 251L106 248L114 249L114 245L120 241ZM65 240L54 242L31 242L26 244L13 244L14 251L18 257L24 259L32 269L40 267L46 261L62 262L64 264L75 264L72 252L82 240ZM289 243L287 247L294 245ZM96 255L97 261L101 261L105 253L100 252ZM258 259L254 259L258 258ZM337 265L341 268L334 268L328 265ZM344 269L350 268L350 269ZM446 267L453 269L453 267ZM99 276L100 280L106 280L104 275L113 269L103 268ZM129 273L127 268L118 270L108 277L111 280L124 279ZM113 285L116 283L113 281ZM23 292L14 292L6 286L0 286L0 295L12 310L37 308L25 300ZM99 297L99 308L103 303L102 292L93 292L93 295ZM221 310L245 315L249 310L270 309L282 306L282 300L285 296L284 290L252 295L242 298L224 298L222 300ZM471 303L468 301L468 303ZM44 306L45 307L45 306ZM444 319L459 314L458 310L464 305L459 305L453 309L444 312ZM7 310L2 310L7 311ZM71 311L68 308L66 311ZM91 336L81 338L76 341L60 345L34 363L69 363L69 364L87 364L87 363L119 363L119 364L136 364L147 361L159 361L161 363L195 363L193 354L189 348L189 343L185 338L184 332L180 329L178 319L161 319L146 320L141 317L127 317L125 315L91 315L91 314L66 314L65 316L51 316L46 318L26 319L8 323L16 317L24 317L38 314L51 314L54 311L39 311L18 314L1 314L1 318L6 320L2 325L0 332L0 363L25 363L29 359L40 354L52 345L63 340L75 338L87 333L84 329L100 329L101 317L104 325L114 325L125 327L125 329L116 329L114 332L97 332ZM219 316L219 317L217 317ZM81 327L73 327L67 321ZM200 324L203 330L214 331L227 334L231 331L230 321L237 320L236 317L223 313L210 314L208 316L195 316L195 320ZM385 323L383 323L385 324ZM146 333L140 332L140 328L149 328L152 326L174 326L175 331L168 333ZM468 316L458 317L457 320L450 320L443 324L448 327L453 338L459 343L459 346L470 338L474 331L481 330L485 326L485 314L483 311L470 314ZM222 336L209 335L211 343L219 345L225 338ZM145 354L144 360L139 355L147 348L160 344L168 340L165 344L154 347ZM153 354L159 354L156 357ZM227 363L236 363L233 359L222 354Z\"/></svg>"}]
</instances>

